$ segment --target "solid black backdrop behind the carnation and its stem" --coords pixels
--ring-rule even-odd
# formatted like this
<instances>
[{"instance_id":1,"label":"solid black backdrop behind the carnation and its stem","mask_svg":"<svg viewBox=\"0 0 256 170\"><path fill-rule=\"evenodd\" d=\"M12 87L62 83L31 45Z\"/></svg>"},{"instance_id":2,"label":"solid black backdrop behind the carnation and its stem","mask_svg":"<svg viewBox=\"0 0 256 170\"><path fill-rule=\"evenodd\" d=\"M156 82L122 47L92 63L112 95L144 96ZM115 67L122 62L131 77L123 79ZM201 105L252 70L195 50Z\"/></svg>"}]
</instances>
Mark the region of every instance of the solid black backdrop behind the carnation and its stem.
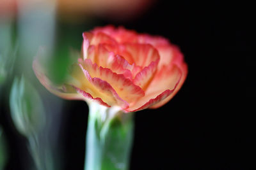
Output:
<instances>
[{"instance_id":1,"label":"solid black backdrop behind the carnation and its stem","mask_svg":"<svg viewBox=\"0 0 256 170\"><path fill-rule=\"evenodd\" d=\"M251 12L246 3L157 1L130 22L101 18L102 25L122 24L170 39L188 63L188 78L172 101L136 113L131 169L255 168L250 156L255 155L253 111L243 104L253 87L246 73L253 69L249 65L255 45ZM83 169L88 107L65 101L63 111L59 147L65 169ZM22 169L22 159L31 159L26 139L6 122L6 115L1 117L11 146L7 169Z\"/></svg>"}]
</instances>

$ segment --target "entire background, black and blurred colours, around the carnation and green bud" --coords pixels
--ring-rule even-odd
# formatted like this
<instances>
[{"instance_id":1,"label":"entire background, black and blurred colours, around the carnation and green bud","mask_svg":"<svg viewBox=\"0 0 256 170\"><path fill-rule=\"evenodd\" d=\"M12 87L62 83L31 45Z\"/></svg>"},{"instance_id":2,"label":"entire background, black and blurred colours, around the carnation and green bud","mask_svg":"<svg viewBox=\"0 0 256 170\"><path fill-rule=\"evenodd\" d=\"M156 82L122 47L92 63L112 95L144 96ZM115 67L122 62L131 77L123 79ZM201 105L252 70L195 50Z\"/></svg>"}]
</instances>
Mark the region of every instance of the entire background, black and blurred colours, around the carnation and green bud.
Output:
<instances>
[{"instance_id":1,"label":"entire background, black and blurred colours, around the carnation and green bud","mask_svg":"<svg viewBox=\"0 0 256 170\"><path fill-rule=\"evenodd\" d=\"M254 169L255 159L249 156L255 154L254 122L243 105L255 87L247 82L255 46L252 16L250 4L228 1L0 0L4 169L35 166L28 138L13 123L10 110L13 81L22 75L40 94L45 120L40 138L42 147L51 150L53 164L83 169L88 106L49 93L31 65L43 46L45 63L60 83L70 52L80 51L82 32L108 24L170 39L189 66L172 101L136 113L131 169Z\"/></svg>"}]
</instances>

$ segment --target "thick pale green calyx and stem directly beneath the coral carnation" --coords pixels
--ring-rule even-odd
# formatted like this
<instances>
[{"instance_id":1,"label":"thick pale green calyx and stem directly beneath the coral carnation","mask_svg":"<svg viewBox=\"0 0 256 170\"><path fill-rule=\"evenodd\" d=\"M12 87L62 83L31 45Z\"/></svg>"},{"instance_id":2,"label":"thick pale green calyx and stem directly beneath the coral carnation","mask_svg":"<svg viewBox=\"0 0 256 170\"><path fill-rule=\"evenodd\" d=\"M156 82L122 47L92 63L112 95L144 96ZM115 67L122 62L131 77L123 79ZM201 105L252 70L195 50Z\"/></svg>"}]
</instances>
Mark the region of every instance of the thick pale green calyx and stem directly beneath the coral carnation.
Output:
<instances>
[{"instance_id":1,"label":"thick pale green calyx and stem directly beneath the coral carnation","mask_svg":"<svg viewBox=\"0 0 256 170\"><path fill-rule=\"evenodd\" d=\"M133 114L96 103L89 106L84 170L129 169Z\"/></svg>"}]
</instances>

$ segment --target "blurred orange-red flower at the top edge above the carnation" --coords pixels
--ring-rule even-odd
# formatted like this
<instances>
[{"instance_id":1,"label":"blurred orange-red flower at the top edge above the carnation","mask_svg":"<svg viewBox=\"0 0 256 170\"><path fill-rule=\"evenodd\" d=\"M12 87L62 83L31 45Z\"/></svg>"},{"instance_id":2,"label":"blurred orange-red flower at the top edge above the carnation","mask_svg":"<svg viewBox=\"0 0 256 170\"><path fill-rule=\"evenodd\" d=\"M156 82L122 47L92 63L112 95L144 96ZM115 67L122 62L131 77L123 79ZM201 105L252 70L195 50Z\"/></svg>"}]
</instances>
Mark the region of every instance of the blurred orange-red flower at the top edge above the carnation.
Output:
<instances>
[{"instance_id":1,"label":"blurred orange-red flower at the top edge above the carnation","mask_svg":"<svg viewBox=\"0 0 256 170\"><path fill-rule=\"evenodd\" d=\"M58 13L60 13L61 16L64 18L72 18L72 20L77 20L84 15L96 15L112 20L128 20L143 13L154 1L155 0L57 0L57 6Z\"/></svg>"}]
</instances>

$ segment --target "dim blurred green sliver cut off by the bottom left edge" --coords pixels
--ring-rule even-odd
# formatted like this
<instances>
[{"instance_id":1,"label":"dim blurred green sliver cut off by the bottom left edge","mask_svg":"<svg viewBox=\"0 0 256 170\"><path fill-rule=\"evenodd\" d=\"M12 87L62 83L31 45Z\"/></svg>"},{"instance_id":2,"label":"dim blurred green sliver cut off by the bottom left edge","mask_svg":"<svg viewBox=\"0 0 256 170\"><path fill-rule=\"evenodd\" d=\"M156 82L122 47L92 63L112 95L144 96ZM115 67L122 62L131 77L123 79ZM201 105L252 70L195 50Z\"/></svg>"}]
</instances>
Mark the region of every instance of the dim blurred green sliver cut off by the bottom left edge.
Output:
<instances>
[{"instance_id":1,"label":"dim blurred green sliver cut off by the bottom left edge","mask_svg":"<svg viewBox=\"0 0 256 170\"><path fill-rule=\"evenodd\" d=\"M0 127L0 170L4 169L7 159L8 153L6 149L6 141L4 139L3 131Z\"/></svg>"}]
</instances>

